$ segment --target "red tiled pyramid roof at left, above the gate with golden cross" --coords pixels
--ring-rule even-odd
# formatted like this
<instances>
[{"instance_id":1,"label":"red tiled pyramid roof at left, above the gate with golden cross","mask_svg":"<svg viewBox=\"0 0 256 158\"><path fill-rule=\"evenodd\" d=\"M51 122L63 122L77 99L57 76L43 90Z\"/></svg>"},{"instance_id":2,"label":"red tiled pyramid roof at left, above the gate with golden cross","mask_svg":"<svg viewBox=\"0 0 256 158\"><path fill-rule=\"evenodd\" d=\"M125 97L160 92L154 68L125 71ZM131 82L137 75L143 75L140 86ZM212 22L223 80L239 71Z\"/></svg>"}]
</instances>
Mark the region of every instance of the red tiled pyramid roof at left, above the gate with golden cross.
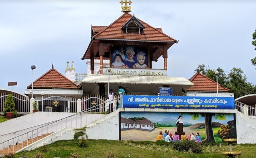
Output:
<instances>
[{"instance_id":1,"label":"red tiled pyramid roof at left, above the gate with golden cross","mask_svg":"<svg viewBox=\"0 0 256 158\"><path fill-rule=\"evenodd\" d=\"M28 86L31 89L32 84ZM62 75L56 69L52 68L33 82L35 89L78 89L77 85Z\"/></svg>"}]
</instances>

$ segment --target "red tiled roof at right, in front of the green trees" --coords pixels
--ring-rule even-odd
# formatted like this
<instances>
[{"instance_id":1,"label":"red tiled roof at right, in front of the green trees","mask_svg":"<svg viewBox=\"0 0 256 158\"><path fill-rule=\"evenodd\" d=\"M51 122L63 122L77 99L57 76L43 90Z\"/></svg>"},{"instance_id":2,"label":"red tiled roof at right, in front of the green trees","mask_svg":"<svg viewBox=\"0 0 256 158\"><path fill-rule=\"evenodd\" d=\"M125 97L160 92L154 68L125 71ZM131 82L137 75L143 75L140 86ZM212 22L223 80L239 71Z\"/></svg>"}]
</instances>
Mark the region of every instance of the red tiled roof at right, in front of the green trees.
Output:
<instances>
[{"instance_id":1,"label":"red tiled roof at right, in front of the green trees","mask_svg":"<svg viewBox=\"0 0 256 158\"><path fill-rule=\"evenodd\" d=\"M203 74L197 72L193 77L189 79L190 82L194 83L194 86L188 88L186 91L200 91L200 92L216 92L216 82ZM218 84L218 91L229 92L228 88L224 88L221 84Z\"/></svg>"}]
</instances>

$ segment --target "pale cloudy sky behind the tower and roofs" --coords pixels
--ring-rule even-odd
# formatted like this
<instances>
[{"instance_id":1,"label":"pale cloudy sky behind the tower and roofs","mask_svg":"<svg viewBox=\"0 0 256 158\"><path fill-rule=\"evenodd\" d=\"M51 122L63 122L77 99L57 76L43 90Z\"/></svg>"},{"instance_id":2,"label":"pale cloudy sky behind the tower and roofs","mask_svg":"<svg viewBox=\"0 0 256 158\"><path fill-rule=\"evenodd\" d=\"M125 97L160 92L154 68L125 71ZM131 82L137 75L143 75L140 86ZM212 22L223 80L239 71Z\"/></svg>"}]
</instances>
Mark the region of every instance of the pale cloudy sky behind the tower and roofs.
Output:
<instances>
[{"instance_id":1,"label":"pale cloudy sky behind the tower and roofs","mask_svg":"<svg viewBox=\"0 0 256 158\"><path fill-rule=\"evenodd\" d=\"M256 55L252 33L256 28L256 1L132 0L135 16L180 40L168 50L168 76L189 79L198 64L241 68L256 84L250 59ZM65 75L66 62L86 73L81 60L89 42L90 25L109 25L123 13L119 0L0 1L0 89L24 93L34 80L54 68ZM163 68L163 60L153 62Z\"/></svg>"}]
</instances>

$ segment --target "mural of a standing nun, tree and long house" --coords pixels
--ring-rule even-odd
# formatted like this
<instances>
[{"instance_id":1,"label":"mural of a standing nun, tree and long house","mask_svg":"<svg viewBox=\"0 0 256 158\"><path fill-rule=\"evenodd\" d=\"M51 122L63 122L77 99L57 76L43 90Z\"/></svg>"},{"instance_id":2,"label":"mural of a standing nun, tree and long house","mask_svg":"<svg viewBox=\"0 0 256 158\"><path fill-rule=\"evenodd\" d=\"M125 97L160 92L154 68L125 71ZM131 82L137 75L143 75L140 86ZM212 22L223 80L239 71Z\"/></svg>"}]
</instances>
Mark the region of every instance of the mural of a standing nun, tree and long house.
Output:
<instances>
[{"instance_id":1,"label":"mural of a standing nun, tree and long house","mask_svg":"<svg viewBox=\"0 0 256 158\"><path fill-rule=\"evenodd\" d=\"M121 140L156 141L160 131L200 134L204 142L236 138L233 113L121 112ZM182 117L181 117L182 116ZM181 119L182 118L182 119ZM190 137L190 136L189 136ZM180 136L181 138L181 136Z\"/></svg>"}]
</instances>

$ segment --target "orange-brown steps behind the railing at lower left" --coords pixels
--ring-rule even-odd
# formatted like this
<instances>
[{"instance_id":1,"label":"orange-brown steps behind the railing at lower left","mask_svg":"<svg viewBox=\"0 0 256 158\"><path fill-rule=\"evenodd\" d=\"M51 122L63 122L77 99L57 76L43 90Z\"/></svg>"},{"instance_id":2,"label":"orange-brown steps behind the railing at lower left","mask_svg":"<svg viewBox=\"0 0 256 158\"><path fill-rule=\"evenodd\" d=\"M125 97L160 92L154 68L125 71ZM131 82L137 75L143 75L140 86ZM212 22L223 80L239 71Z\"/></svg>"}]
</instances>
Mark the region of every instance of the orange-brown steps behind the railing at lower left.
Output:
<instances>
[{"instance_id":1,"label":"orange-brown steps behind the railing at lower left","mask_svg":"<svg viewBox=\"0 0 256 158\"><path fill-rule=\"evenodd\" d=\"M18 150L30 145L30 144L33 144L34 142L37 142L49 135L51 135L52 133L47 133L47 134L43 134L42 136L37 136L37 137L34 137L33 139L30 138L26 141L23 141L21 143L17 143L15 145L10 145L9 147L5 147L3 150L0 150L0 156L1 155L4 155L4 154L8 154L8 153L16 153Z\"/></svg>"}]
</instances>

